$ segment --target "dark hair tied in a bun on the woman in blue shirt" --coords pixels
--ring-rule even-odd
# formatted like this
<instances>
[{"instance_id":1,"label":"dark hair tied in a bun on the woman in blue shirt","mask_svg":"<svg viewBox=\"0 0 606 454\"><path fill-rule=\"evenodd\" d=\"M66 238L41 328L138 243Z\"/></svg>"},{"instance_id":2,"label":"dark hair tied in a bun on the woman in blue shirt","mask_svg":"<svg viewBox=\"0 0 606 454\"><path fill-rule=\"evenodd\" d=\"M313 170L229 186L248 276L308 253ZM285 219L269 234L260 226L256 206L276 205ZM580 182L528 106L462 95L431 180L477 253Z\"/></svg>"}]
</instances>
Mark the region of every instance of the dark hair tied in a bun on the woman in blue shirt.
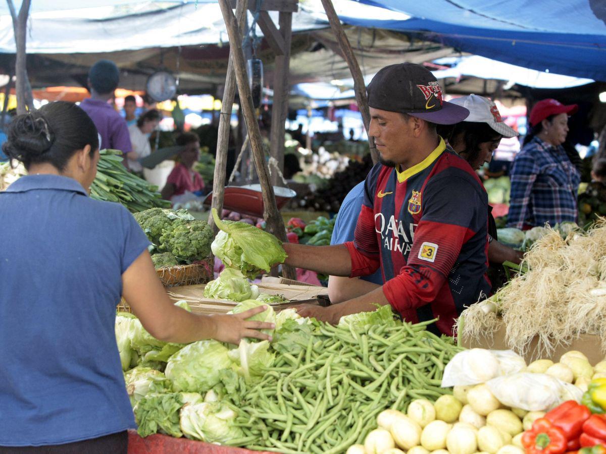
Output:
<instances>
[{"instance_id":1,"label":"dark hair tied in a bun on the woman in blue shirt","mask_svg":"<svg viewBox=\"0 0 606 454\"><path fill-rule=\"evenodd\" d=\"M48 162L62 171L73 154L86 145L90 145L91 156L99 148L93 120L77 105L56 101L16 116L7 127L2 150L26 169L33 163Z\"/></svg>"}]
</instances>

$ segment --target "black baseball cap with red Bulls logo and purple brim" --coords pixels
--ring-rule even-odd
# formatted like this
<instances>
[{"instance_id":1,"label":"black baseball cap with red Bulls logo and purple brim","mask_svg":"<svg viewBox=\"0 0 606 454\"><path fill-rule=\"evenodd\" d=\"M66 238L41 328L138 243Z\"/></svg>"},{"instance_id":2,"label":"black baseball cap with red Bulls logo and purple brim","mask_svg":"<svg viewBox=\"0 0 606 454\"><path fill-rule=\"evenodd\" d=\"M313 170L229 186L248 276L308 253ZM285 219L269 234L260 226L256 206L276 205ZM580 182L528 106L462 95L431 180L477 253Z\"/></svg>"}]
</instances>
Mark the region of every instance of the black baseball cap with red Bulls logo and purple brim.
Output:
<instances>
[{"instance_id":1,"label":"black baseball cap with red Bulls logo and purple brim","mask_svg":"<svg viewBox=\"0 0 606 454\"><path fill-rule=\"evenodd\" d=\"M442 99L442 88L422 65L399 63L382 68L367 87L368 105L439 125L462 122L469 111Z\"/></svg>"}]
</instances>

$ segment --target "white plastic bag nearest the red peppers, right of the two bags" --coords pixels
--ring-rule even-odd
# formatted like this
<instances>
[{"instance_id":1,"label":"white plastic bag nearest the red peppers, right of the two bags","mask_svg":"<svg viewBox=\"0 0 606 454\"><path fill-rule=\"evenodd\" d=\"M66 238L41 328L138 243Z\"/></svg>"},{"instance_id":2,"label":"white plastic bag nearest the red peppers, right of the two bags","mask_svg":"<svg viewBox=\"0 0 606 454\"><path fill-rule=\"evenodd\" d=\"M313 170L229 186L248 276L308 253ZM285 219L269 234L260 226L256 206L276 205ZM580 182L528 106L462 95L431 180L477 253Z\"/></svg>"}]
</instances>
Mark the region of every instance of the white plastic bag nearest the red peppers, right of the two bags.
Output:
<instances>
[{"instance_id":1,"label":"white plastic bag nearest the red peppers, right of the two bags","mask_svg":"<svg viewBox=\"0 0 606 454\"><path fill-rule=\"evenodd\" d=\"M529 412L550 410L567 400L581 401L583 392L545 373L522 372L493 378L486 383L499 402Z\"/></svg>"}]
</instances>

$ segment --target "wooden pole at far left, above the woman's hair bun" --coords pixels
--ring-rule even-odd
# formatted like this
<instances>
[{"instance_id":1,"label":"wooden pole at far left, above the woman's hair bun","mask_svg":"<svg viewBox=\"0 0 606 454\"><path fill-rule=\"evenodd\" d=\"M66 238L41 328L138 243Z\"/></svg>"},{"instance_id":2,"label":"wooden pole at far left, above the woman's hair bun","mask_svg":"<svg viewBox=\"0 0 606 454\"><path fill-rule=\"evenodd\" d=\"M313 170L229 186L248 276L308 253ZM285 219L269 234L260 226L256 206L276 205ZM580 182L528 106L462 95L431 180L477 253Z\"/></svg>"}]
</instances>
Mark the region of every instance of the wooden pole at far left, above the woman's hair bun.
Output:
<instances>
[{"instance_id":1,"label":"wooden pole at far left, above the woman's hair bun","mask_svg":"<svg viewBox=\"0 0 606 454\"><path fill-rule=\"evenodd\" d=\"M13 0L7 0L10 15L13 18L13 31L15 32L15 74L17 81L15 91L17 92L17 113L19 115L33 110L32 87L27 77L27 53L25 51L25 39L27 38L27 16L30 12L31 0L23 0L19 14L17 15Z\"/></svg>"}]
</instances>

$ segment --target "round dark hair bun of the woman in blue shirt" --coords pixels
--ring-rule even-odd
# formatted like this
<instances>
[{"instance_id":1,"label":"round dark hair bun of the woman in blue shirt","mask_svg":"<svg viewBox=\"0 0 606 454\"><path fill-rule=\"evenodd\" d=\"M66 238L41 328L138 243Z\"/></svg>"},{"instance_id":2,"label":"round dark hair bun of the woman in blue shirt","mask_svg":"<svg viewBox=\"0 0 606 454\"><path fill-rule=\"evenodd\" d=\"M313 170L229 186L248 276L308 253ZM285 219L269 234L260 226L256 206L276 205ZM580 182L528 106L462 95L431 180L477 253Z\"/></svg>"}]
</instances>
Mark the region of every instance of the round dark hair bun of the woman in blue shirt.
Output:
<instances>
[{"instance_id":1,"label":"round dark hair bun of the woman in blue shirt","mask_svg":"<svg viewBox=\"0 0 606 454\"><path fill-rule=\"evenodd\" d=\"M2 146L9 157L36 160L53 146L53 131L38 111L15 117L10 126L7 141Z\"/></svg>"}]
</instances>

